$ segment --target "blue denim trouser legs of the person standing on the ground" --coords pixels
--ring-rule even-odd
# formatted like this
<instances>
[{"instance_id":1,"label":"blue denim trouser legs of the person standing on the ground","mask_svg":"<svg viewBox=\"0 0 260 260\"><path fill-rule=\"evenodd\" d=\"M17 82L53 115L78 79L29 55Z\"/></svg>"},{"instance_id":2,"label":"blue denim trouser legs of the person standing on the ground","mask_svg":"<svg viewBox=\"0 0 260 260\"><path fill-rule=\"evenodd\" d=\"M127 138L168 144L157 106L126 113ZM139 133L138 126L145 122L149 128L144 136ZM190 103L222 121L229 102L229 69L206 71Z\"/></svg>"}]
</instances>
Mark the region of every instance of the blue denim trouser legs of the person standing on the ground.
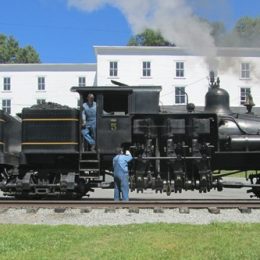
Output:
<instances>
[{"instance_id":1,"label":"blue denim trouser legs of the person standing on the ground","mask_svg":"<svg viewBox=\"0 0 260 260\"><path fill-rule=\"evenodd\" d=\"M114 176L114 200L119 201L128 201L129 193L129 183L128 183L128 174L121 173ZM121 196L122 195L122 196Z\"/></svg>"}]
</instances>

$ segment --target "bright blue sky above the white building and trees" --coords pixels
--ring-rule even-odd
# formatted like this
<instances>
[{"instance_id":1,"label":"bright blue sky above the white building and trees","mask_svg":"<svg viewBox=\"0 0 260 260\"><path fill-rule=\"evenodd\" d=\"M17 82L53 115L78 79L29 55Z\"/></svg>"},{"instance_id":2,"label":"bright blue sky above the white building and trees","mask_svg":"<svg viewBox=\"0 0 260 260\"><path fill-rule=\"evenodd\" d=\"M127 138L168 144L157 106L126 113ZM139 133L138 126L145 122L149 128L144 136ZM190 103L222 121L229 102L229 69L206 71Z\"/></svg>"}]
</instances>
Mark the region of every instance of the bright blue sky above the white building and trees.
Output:
<instances>
[{"instance_id":1,"label":"bright blue sky above the white building and trees","mask_svg":"<svg viewBox=\"0 0 260 260\"><path fill-rule=\"evenodd\" d=\"M15 37L21 47L33 46L43 63L95 63L93 46L124 46L136 33L138 23L133 23L133 13L118 7L120 1L126 0L114 0L118 5L112 0L0 0L0 33ZM260 17L259 0L171 1L228 29L240 17ZM140 16L141 10L132 12Z\"/></svg>"}]
</instances>

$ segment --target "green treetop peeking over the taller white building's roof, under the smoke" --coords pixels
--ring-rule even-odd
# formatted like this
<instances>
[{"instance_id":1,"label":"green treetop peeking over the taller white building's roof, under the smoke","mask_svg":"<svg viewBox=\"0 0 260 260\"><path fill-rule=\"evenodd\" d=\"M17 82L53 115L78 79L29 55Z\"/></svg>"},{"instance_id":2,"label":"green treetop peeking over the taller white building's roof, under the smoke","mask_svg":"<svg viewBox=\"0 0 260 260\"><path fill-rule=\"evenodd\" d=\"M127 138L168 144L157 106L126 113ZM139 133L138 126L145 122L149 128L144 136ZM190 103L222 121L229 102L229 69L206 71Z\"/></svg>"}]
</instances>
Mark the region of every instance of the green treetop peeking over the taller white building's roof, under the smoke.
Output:
<instances>
[{"instance_id":1,"label":"green treetop peeking over the taller white building's roof, under the smoke","mask_svg":"<svg viewBox=\"0 0 260 260\"><path fill-rule=\"evenodd\" d=\"M144 32L136 34L128 41L128 46L175 46L166 41L159 31L145 29Z\"/></svg>"}]
</instances>

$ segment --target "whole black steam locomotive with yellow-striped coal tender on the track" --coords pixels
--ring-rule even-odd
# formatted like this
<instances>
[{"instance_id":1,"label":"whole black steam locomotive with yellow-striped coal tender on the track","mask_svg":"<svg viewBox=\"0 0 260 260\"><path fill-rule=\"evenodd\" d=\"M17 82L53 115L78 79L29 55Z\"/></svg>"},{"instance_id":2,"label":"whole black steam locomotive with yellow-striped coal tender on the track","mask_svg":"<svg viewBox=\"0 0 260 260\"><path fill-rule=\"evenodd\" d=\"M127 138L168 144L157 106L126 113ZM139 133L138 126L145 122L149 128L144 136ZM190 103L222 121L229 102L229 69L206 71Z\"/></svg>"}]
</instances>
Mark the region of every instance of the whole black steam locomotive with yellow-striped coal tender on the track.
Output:
<instances>
[{"instance_id":1,"label":"whole black steam locomotive with yellow-striped coal tender on the track","mask_svg":"<svg viewBox=\"0 0 260 260\"><path fill-rule=\"evenodd\" d=\"M156 192L250 187L260 197L260 117L235 114L229 95L210 76L205 111L161 112L159 86L73 87L81 107L97 103L96 152L86 150L81 111L25 108L21 122L0 113L0 188L16 197L81 198L95 187L112 188L116 148L130 149L131 190ZM225 170L225 173L223 173ZM222 177L253 170L251 184ZM222 172L221 172L222 171Z\"/></svg>"}]
</instances>

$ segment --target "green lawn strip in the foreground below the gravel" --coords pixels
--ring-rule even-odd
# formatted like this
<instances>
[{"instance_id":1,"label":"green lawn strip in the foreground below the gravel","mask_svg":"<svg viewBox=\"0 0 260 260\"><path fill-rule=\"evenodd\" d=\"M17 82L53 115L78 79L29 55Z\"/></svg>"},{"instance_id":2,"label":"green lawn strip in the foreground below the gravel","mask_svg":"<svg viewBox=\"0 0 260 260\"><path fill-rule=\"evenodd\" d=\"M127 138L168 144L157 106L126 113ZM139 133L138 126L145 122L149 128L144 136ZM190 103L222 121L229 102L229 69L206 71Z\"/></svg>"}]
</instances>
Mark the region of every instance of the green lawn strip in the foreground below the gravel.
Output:
<instances>
[{"instance_id":1,"label":"green lawn strip in the foreground below the gravel","mask_svg":"<svg viewBox=\"0 0 260 260\"><path fill-rule=\"evenodd\" d=\"M259 259L260 224L0 225L0 259Z\"/></svg>"}]
</instances>

